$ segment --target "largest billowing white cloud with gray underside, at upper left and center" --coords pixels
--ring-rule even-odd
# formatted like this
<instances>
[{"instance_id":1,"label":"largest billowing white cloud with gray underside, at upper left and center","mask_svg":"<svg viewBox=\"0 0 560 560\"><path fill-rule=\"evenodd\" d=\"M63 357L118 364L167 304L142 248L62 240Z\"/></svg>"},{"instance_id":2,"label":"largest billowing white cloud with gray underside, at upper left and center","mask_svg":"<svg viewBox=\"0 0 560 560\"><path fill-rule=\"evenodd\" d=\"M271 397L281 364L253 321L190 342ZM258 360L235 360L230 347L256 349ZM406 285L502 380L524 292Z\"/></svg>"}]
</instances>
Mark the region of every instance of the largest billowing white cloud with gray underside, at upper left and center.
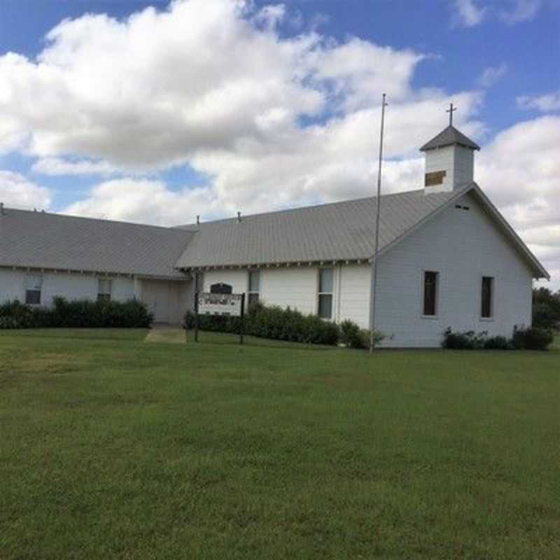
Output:
<instances>
[{"instance_id":1,"label":"largest billowing white cloud with gray underside, at upper left and center","mask_svg":"<svg viewBox=\"0 0 560 560\"><path fill-rule=\"evenodd\" d=\"M412 97L421 53L316 31L282 38L284 8L252 6L188 0L123 21L64 20L36 61L0 57L0 142L40 158L160 169L285 143L300 118L359 111L381 90L392 102Z\"/></svg>"}]
</instances>

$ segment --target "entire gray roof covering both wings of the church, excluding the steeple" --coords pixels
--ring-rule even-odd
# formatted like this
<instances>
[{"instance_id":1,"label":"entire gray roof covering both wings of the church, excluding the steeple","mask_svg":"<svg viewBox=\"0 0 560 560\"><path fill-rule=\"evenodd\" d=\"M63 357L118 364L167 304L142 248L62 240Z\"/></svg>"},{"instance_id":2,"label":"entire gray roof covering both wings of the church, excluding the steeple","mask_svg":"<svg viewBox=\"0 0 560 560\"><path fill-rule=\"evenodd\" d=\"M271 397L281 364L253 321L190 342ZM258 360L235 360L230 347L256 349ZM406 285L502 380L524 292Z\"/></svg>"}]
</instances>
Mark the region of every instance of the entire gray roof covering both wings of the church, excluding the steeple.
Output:
<instances>
[{"instance_id":1,"label":"entire gray roof covering both wings of the church, excluding the steeple","mask_svg":"<svg viewBox=\"0 0 560 560\"><path fill-rule=\"evenodd\" d=\"M379 250L390 250L469 192L496 219L535 278L549 278L476 183L452 193L426 195L420 189L381 197ZM178 269L368 260L376 206L377 197L369 197L179 228L4 209L0 266L180 278Z\"/></svg>"}]
</instances>

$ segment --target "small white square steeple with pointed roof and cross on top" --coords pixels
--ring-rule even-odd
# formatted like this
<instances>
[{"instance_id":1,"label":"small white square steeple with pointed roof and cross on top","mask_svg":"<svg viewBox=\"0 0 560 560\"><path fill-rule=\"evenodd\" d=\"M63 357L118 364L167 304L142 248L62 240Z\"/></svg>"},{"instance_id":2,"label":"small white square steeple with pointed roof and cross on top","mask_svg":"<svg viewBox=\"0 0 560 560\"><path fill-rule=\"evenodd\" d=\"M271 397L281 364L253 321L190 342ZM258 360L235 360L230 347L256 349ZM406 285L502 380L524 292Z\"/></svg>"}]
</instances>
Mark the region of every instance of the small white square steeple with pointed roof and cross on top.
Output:
<instances>
[{"instance_id":1,"label":"small white square steeple with pointed roof and cross on top","mask_svg":"<svg viewBox=\"0 0 560 560\"><path fill-rule=\"evenodd\" d=\"M456 190L473 181L475 151L480 147L453 126L454 111L451 104L449 126L420 148L426 154L426 194Z\"/></svg>"}]
</instances>

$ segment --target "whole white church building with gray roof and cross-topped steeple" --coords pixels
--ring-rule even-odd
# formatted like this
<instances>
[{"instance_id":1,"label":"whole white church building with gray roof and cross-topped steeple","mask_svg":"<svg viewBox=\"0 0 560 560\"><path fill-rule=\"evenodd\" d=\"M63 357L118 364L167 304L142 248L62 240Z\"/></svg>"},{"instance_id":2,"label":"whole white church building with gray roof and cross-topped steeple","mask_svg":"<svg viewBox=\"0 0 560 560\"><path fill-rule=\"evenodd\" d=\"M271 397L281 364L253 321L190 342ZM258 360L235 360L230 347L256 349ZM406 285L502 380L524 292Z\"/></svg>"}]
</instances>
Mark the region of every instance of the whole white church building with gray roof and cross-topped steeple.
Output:
<instances>
[{"instance_id":1,"label":"whole white church building with gray roof and cross-topped steeple","mask_svg":"<svg viewBox=\"0 0 560 560\"><path fill-rule=\"evenodd\" d=\"M384 346L439 346L447 327L511 336L549 278L473 181L453 126L425 144L423 188L381 197L375 327ZM0 207L0 302L111 297L180 323L196 283L246 302L370 327L377 197L160 228Z\"/></svg>"}]
</instances>

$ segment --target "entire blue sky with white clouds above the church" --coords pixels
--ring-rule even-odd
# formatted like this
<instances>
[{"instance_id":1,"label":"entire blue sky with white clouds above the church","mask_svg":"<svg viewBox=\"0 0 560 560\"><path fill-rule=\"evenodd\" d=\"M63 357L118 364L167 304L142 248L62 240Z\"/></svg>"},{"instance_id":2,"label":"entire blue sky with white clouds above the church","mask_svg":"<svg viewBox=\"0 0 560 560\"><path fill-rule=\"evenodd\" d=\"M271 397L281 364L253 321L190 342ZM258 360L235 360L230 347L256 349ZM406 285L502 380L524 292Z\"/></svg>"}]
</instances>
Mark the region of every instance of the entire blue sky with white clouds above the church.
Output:
<instances>
[{"instance_id":1,"label":"entire blue sky with white clouds above the church","mask_svg":"<svg viewBox=\"0 0 560 560\"><path fill-rule=\"evenodd\" d=\"M1 0L0 201L157 225L421 188L454 124L560 289L560 0Z\"/></svg>"}]
</instances>

